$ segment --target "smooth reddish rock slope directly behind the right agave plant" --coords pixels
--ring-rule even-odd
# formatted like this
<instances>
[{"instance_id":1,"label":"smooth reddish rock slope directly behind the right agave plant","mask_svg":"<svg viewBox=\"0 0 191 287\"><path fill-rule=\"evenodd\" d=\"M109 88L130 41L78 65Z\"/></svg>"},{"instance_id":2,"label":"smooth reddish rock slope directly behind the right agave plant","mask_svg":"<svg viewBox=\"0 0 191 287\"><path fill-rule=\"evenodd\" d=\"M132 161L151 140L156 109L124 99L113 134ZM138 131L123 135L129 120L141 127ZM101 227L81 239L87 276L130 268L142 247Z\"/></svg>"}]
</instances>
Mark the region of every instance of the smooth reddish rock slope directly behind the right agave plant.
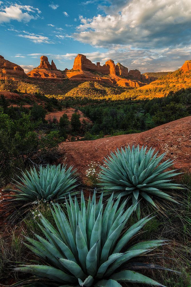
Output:
<instances>
[{"instance_id":1,"label":"smooth reddish rock slope directly behind the right agave plant","mask_svg":"<svg viewBox=\"0 0 191 287\"><path fill-rule=\"evenodd\" d=\"M142 133L118 135L94 141L63 142L59 150L63 156L59 163L67 163L78 168L81 178L85 179L85 170L91 161L102 162L104 157L117 148L147 145L156 148L160 154L166 152L165 159L174 160L174 168L191 170L191 116L155 127Z\"/></svg>"}]
</instances>

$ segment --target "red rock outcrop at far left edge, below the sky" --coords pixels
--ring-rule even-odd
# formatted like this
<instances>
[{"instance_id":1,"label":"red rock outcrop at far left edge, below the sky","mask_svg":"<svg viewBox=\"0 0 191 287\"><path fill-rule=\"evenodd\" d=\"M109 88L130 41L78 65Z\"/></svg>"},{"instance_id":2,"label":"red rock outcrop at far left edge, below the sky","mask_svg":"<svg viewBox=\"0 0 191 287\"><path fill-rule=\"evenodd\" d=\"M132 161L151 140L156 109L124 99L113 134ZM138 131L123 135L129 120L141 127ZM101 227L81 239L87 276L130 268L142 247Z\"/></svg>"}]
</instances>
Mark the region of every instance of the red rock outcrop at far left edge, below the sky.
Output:
<instances>
[{"instance_id":1,"label":"red rock outcrop at far left edge, below the sky","mask_svg":"<svg viewBox=\"0 0 191 287\"><path fill-rule=\"evenodd\" d=\"M0 56L0 79L15 79L27 77L23 68L19 65L5 60L3 56Z\"/></svg>"}]
</instances>

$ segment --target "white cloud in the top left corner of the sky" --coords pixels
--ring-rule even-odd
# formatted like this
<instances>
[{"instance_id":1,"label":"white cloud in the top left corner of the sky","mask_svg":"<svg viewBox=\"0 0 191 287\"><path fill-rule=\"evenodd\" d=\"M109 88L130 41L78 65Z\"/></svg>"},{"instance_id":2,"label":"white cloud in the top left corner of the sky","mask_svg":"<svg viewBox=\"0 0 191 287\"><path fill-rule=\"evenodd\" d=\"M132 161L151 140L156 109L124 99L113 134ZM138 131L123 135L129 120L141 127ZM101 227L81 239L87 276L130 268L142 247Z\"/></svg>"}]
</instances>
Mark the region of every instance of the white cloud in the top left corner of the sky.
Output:
<instances>
[{"instance_id":1,"label":"white cloud in the top left corner of the sky","mask_svg":"<svg viewBox=\"0 0 191 287\"><path fill-rule=\"evenodd\" d=\"M1 8L0 23L10 22L11 20L29 22L31 19L38 18L40 13L41 11L33 6L14 4Z\"/></svg>"}]
</instances>

